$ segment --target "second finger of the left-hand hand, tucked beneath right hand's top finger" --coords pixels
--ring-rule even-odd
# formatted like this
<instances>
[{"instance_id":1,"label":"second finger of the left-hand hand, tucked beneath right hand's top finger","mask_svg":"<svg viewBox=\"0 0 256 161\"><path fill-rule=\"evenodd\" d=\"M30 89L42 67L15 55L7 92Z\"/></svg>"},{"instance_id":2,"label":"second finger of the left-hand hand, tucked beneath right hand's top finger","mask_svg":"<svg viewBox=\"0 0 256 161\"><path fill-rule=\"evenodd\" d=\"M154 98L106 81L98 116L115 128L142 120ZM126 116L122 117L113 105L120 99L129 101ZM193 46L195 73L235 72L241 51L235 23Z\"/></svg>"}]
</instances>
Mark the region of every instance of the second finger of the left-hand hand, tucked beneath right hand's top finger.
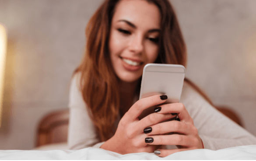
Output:
<instances>
[{"instance_id":1,"label":"second finger of the left-hand hand, tucked beneath right hand's top finger","mask_svg":"<svg viewBox=\"0 0 256 161\"><path fill-rule=\"evenodd\" d=\"M157 123L161 123L162 121L172 118L176 118L176 115L152 113L137 122L136 127L141 130L140 132L143 132L143 130L149 126L153 126Z\"/></svg>"}]
</instances>

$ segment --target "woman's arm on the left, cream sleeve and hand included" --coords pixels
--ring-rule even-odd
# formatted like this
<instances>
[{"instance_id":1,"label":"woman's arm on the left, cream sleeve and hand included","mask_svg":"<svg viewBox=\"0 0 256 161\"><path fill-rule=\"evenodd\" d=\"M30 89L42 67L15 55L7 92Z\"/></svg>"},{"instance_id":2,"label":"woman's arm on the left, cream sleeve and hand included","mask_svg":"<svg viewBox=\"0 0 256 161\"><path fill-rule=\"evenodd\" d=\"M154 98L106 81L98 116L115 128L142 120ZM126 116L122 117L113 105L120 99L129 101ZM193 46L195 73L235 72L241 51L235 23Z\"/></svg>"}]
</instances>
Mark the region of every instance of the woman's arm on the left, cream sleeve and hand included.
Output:
<instances>
[{"instance_id":1,"label":"woman's arm on the left, cream sleeve and hand included","mask_svg":"<svg viewBox=\"0 0 256 161\"><path fill-rule=\"evenodd\" d=\"M88 110L79 87L79 77L75 77L70 88L70 123L68 144L70 149L81 149L85 147L101 147L102 149L114 151L120 154L153 152L157 146L149 146L145 141L144 129L147 126L172 119L172 114L159 115L153 113L139 120L141 112L151 106L162 104L167 97L154 95L137 101L120 120L115 135L106 142L98 143L95 126L88 115ZM98 143L98 144L97 144Z\"/></svg>"}]
</instances>

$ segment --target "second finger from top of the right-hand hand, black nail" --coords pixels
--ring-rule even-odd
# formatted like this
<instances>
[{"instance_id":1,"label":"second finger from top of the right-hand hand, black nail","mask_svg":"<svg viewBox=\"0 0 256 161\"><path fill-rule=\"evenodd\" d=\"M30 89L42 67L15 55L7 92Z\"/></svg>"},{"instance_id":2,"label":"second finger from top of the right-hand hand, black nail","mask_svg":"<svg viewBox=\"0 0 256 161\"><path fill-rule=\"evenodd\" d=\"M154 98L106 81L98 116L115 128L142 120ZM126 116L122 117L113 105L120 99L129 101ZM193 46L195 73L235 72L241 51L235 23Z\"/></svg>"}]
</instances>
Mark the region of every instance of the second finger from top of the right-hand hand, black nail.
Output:
<instances>
[{"instance_id":1,"label":"second finger from top of the right-hand hand, black nail","mask_svg":"<svg viewBox=\"0 0 256 161\"><path fill-rule=\"evenodd\" d=\"M150 126L150 128L151 128L151 132L147 133L147 135L157 135L157 134L164 134L164 133L171 133L171 132L182 133L185 135L189 135L189 134L196 135L198 133L198 130L196 129L195 126L191 124L182 123L179 121L168 121L165 123L158 123L153 126Z\"/></svg>"}]
</instances>

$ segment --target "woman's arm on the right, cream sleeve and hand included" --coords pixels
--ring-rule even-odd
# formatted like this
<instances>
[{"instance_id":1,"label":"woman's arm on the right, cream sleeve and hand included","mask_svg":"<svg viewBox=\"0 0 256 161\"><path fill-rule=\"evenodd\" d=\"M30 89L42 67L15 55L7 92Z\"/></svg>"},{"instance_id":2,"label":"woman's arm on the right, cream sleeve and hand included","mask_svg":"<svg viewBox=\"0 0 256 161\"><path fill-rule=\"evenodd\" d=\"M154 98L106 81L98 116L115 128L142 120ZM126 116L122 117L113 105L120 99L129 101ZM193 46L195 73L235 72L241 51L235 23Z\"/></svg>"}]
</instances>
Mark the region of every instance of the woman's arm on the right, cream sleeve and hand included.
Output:
<instances>
[{"instance_id":1,"label":"woman's arm on the right, cream sleeve and hand included","mask_svg":"<svg viewBox=\"0 0 256 161\"><path fill-rule=\"evenodd\" d=\"M149 145L177 145L179 149L158 149L160 157L192 149L218 150L256 144L256 137L211 106L188 84L183 85L181 103L161 105L158 114L177 114L179 121L151 126ZM143 119L142 119L143 120ZM172 135L157 135L174 132Z\"/></svg>"}]
</instances>

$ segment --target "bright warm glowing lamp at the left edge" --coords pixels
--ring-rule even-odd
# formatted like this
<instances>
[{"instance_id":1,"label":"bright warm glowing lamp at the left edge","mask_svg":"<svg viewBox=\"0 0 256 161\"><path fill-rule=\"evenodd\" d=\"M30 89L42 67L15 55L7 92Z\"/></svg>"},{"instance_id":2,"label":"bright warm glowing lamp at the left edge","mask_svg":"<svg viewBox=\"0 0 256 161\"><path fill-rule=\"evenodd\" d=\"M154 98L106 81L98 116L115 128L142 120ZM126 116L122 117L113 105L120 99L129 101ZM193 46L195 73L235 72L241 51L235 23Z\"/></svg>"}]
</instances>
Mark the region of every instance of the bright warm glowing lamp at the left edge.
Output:
<instances>
[{"instance_id":1,"label":"bright warm glowing lamp at the left edge","mask_svg":"<svg viewBox=\"0 0 256 161\"><path fill-rule=\"evenodd\" d=\"M6 51L7 51L7 30L4 27L4 25L0 24L0 127L2 122Z\"/></svg>"}]
</instances>

